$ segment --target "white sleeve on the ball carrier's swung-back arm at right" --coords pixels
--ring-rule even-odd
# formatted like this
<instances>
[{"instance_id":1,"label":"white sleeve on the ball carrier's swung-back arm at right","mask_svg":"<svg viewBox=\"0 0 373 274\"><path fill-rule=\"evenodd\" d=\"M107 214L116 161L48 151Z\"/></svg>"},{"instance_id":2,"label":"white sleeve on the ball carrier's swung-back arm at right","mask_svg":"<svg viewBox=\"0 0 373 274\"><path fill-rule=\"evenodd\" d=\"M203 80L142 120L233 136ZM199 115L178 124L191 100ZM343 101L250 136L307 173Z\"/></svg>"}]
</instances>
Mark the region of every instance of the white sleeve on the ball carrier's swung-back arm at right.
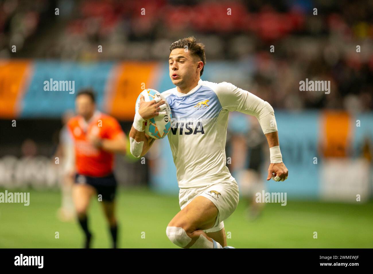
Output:
<instances>
[{"instance_id":1,"label":"white sleeve on the ball carrier's swung-back arm at right","mask_svg":"<svg viewBox=\"0 0 373 274\"><path fill-rule=\"evenodd\" d=\"M223 109L255 116L264 134L277 131L275 111L263 99L227 82L217 84L216 95Z\"/></svg>"}]
</instances>

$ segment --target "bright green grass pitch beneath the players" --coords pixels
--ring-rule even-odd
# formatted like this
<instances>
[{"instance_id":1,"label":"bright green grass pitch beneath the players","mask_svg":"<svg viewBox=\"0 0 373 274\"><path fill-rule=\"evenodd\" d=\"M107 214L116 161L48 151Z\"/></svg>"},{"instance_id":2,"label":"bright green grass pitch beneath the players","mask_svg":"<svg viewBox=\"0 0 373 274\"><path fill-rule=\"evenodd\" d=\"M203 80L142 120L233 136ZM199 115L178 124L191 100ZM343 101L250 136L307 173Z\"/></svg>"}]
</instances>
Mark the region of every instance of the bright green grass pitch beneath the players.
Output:
<instances>
[{"instance_id":1,"label":"bright green grass pitch beneath the players","mask_svg":"<svg viewBox=\"0 0 373 274\"><path fill-rule=\"evenodd\" d=\"M29 206L0 204L0 248L80 248L83 237L78 224L57 218L60 192L26 191L30 192ZM180 210L178 202L177 195L159 195L142 188L120 189L119 247L178 248L166 236L167 224ZM236 211L224 221L229 233L227 243L235 248L373 248L372 201L288 201L285 207L266 204L255 221L245 217L246 205L241 199ZM110 247L107 223L100 202L94 199L89 224L94 235L93 248ZM59 232L59 239L55 232ZM317 239L313 238L314 232Z\"/></svg>"}]
</instances>

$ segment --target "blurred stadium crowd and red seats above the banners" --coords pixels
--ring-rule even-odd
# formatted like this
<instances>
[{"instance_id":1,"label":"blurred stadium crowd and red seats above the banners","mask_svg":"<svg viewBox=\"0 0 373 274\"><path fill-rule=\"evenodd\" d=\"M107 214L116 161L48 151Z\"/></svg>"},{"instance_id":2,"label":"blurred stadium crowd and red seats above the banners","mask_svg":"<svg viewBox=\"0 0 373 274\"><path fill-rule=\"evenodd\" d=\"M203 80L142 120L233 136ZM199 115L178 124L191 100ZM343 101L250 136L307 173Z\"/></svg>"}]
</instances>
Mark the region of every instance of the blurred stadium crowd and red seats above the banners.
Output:
<instances>
[{"instance_id":1,"label":"blurred stadium crowd and red seats above the banners","mask_svg":"<svg viewBox=\"0 0 373 274\"><path fill-rule=\"evenodd\" d=\"M372 1L6 0L0 58L165 60L173 41L194 35L209 49L207 69L235 62L245 77L234 84L275 108L369 111L372 15ZM332 92L294 92L306 78Z\"/></svg>"}]
</instances>

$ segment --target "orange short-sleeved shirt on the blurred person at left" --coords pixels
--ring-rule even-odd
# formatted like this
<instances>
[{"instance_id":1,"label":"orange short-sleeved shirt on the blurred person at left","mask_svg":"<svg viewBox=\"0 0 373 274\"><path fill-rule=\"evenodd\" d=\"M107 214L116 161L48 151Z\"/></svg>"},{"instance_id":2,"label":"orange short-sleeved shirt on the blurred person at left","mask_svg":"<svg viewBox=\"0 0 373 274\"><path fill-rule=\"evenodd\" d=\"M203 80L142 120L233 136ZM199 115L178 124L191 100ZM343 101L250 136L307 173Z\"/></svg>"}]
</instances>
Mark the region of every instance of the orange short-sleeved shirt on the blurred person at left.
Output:
<instances>
[{"instance_id":1,"label":"orange short-sleeved shirt on the blurred person at left","mask_svg":"<svg viewBox=\"0 0 373 274\"><path fill-rule=\"evenodd\" d=\"M88 142L88 136L114 139L117 135L124 134L117 120L96 111L88 123L81 116L71 118L68 128L74 140L77 172L93 177L103 177L112 173L114 154L95 148Z\"/></svg>"}]
</instances>

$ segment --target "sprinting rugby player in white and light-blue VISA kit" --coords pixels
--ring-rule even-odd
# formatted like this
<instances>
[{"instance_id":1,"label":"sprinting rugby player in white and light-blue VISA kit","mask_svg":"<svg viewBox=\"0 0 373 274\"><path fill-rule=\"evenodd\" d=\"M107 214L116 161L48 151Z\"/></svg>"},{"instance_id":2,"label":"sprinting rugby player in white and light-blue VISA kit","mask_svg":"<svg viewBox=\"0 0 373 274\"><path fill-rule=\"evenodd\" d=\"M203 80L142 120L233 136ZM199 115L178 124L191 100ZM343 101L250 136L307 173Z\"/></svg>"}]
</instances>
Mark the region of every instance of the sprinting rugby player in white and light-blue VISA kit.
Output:
<instances>
[{"instance_id":1,"label":"sprinting rugby player in white and light-blue VISA kit","mask_svg":"<svg viewBox=\"0 0 373 274\"><path fill-rule=\"evenodd\" d=\"M225 142L230 111L255 116L270 148L267 180L283 181L276 120L269 103L227 82L203 81L204 45L194 37L170 46L169 76L175 88L162 93L172 111L168 139L176 166L181 211L166 228L171 242L182 248L232 248L226 245L223 221L238 205L238 185L226 166ZM141 97L129 134L131 153L140 157L154 142L144 133L144 121L165 115L162 99Z\"/></svg>"}]
</instances>

